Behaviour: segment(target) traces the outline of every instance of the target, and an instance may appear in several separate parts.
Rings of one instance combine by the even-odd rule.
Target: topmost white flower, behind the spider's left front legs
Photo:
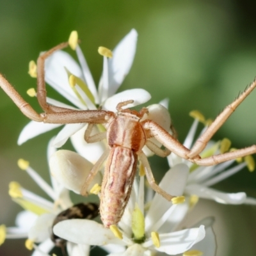
[[[76,53],[79,64],[67,52],[57,51],[52,54],[45,62],[45,81],[63,97],[68,99],[76,108],[50,98],[47,98],[47,102],[54,106],[70,109],[97,109],[100,106],[102,109],[109,111],[116,111],[116,105],[124,100],[134,100],[134,103],[125,106],[126,108],[147,102],[150,99],[150,94],[143,89],[126,90],[115,94],[131,68],[136,51],[137,36],[136,30],[132,29],[113,50],[113,58],[104,56],[103,72],[98,91],[78,44],[76,44]],[[76,81],[74,90],[70,86],[70,76]],[[20,145],[60,125],[29,122],[20,133],[18,144]],[[83,133],[86,125],[65,125],[54,140],[54,147],[61,147],[70,136],[76,134],[77,131],[81,131],[81,129],[81,133]],[[82,138],[80,134],[72,138],[74,147],[82,156],[86,156],[87,159],[90,157],[88,160],[95,163],[104,151],[104,145],[99,142],[84,147],[86,143]],[[95,154],[92,154],[93,148],[97,148]]]

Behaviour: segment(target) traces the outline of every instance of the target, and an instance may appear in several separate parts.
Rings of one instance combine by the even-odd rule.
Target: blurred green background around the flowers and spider
[[[139,34],[136,57],[120,90],[145,88],[152,94],[150,103],[168,97],[173,124],[183,141],[193,121],[189,111],[198,109],[207,118],[214,118],[256,76],[255,11],[256,2],[249,0],[0,0],[0,72],[40,111],[36,99],[26,95],[36,84],[28,76],[28,62],[36,60],[40,51],[67,40],[70,31],[76,29],[97,82],[102,70],[97,48],[104,45],[113,49],[135,28]],[[255,99],[253,92],[214,138],[228,137],[237,148],[255,144]],[[17,159],[28,159],[49,181],[45,153],[56,130],[18,147],[19,132],[28,118],[2,91],[0,120],[0,223],[12,226],[21,208],[8,196],[10,181],[17,180],[24,188],[45,196],[19,170]],[[166,161],[153,157],[150,163],[159,180],[168,168]],[[256,174],[244,169],[216,188],[246,191],[256,197],[255,183]],[[187,223],[215,216],[217,255],[256,255],[255,209],[201,200]],[[0,246],[0,255],[30,254],[24,240],[9,240]]]

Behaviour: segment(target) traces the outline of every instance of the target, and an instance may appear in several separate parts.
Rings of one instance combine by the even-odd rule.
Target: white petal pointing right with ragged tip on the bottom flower
[[[204,239],[204,237],[204,225],[201,225],[199,228],[189,228],[169,234],[159,234],[160,247],[155,248],[155,250],[165,252],[168,255],[176,255],[188,251],[194,244]]]

